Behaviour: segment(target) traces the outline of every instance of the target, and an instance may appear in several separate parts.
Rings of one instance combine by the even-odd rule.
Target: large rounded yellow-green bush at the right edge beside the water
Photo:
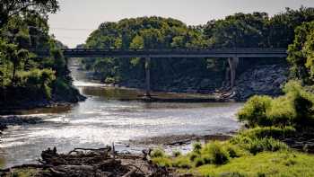
[[[254,96],[238,113],[240,121],[256,126],[302,126],[313,125],[314,95],[307,92],[297,81],[290,81],[283,88],[285,95],[272,99]]]

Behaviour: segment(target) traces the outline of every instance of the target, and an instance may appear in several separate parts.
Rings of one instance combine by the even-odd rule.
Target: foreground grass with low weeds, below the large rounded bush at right
[[[273,130],[266,128],[267,134],[269,129]],[[273,137],[250,137],[252,129],[248,132],[230,141],[196,144],[187,155],[160,155],[157,150],[153,163],[174,167],[178,173],[213,177],[314,176],[314,155],[293,151]],[[277,129],[275,132],[277,136]]]

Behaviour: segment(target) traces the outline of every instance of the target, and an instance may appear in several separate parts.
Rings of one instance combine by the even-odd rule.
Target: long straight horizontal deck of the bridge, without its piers
[[[63,49],[66,58],[286,58],[286,49]],[[39,56],[48,51],[34,50]]]

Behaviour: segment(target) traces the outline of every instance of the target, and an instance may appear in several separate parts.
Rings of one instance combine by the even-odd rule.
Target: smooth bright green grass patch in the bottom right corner
[[[206,164],[190,172],[202,176],[314,176],[314,155],[290,151],[263,152],[231,159],[228,164]],[[233,175],[232,175],[233,174]],[[237,175],[235,175],[237,174]],[[240,175],[239,175],[240,174]]]

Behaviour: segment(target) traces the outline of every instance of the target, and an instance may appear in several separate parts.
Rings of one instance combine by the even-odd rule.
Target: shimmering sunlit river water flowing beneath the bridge
[[[114,142],[118,150],[140,151],[141,146],[128,146],[128,140],[210,135],[240,128],[235,113],[241,103],[121,102],[120,98],[137,97],[141,92],[87,82],[77,65],[70,68],[74,84],[88,99],[71,107],[23,111],[22,114],[41,117],[45,122],[4,131],[0,148],[5,167],[36,163],[48,146],[67,152],[74,147],[96,148]]]

